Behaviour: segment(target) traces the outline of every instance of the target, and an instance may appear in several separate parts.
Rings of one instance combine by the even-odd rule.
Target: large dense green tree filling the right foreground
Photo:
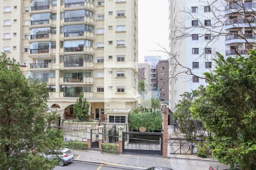
[[[256,50],[248,57],[215,59],[213,73],[205,73],[209,86],[200,90],[191,113],[212,131],[212,154],[221,163],[241,169],[256,164]]]

